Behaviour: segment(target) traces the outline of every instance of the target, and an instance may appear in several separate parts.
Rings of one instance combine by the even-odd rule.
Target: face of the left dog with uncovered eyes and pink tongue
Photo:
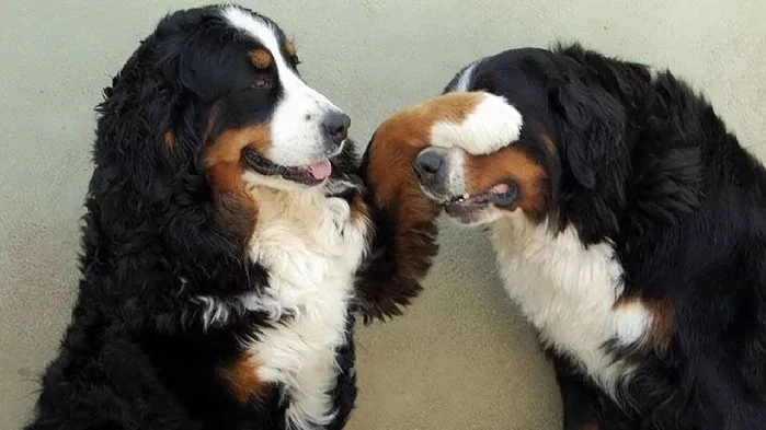
[[[209,26],[220,34],[201,28],[202,46],[180,62],[182,82],[214,102],[207,166],[233,163],[247,183],[274,188],[322,184],[346,143],[348,116],[304,82],[296,48],[274,22],[237,7],[218,20]],[[206,49],[220,38],[231,43]]]

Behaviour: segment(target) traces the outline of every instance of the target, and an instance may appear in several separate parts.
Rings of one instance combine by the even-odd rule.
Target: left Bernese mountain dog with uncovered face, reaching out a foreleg
[[[409,163],[365,189],[378,167],[298,62],[268,18],[209,5],[164,18],[113,79],[79,295],[26,429],[344,426],[354,317],[418,293],[433,214],[390,193],[420,193]]]

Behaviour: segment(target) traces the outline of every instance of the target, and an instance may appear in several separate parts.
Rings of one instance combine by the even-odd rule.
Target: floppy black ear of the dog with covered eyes
[[[628,156],[626,112],[616,96],[597,82],[569,75],[551,86],[549,102],[560,116],[564,165],[580,185],[594,189],[605,176],[624,173],[614,171],[621,171]]]

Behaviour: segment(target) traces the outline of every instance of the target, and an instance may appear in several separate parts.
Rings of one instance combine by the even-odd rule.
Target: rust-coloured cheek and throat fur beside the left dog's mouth
[[[258,125],[224,131],[205,154],[218,222],[244,242],[253,235],[258,206],[242,181],[242,150],[250,147],[263,154],[270,144],[268,126]]]

